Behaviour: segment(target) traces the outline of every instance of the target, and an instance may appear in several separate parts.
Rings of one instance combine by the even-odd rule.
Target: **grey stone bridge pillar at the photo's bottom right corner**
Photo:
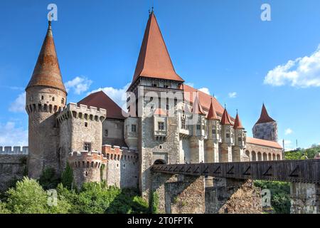
[[[320,214],[320,185],[291,183],[291,214]]]

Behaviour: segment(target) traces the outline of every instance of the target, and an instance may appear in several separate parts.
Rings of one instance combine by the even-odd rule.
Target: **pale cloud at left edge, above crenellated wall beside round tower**
[[[1,146],[25,146],[28,145],[28,130],[16,128],[16,123],[7,122],[1,124],[0,145]]]

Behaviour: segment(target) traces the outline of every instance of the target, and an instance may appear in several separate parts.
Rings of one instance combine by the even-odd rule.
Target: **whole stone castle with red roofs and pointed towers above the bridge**
[[[26,87],[28,176],[67,163],[75,185],[100,182],[139,187],[149,195],[154,164],[282,160],[277,122],[262,107],[246,135],[213,96],[184,84],[174,70],[152,11],[132,83],[127,112],[102,91],[67,103],[49,22],[36,67]],[[1,152],[0,152],[1,153]]]

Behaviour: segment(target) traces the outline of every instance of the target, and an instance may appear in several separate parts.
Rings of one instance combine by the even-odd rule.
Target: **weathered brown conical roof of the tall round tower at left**
[[[62,90],[66,93],[65,86],[62,81],[57,53],[55,51],[51,21],[49,21],[46,38],[43,41],[36,67],[34,68],[31,80],[29,81],[26,90],[34,86],[57,88],[58,90]]]

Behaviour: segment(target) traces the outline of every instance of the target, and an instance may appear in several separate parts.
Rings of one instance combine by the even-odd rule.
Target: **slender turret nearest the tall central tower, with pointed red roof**
[[[199,163],[205,160],[204,138],[206,137],[206,113],[203,112],[198,95],[193,101],[192,115],[193,133],[190,138],[191,163]]]

